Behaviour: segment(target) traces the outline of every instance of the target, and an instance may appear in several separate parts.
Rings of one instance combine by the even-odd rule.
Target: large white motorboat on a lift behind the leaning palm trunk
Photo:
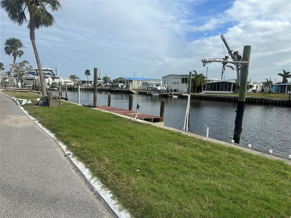
[[[45,77],[45,86],[48,87],[56,87],[59,88],[59,81],[61,85],[63,84],[63,79],[56,76],[52,69],[50,68],[42,68],[43,75]],[[38,68],[32,68],[27,74],[24,74],[22,77],[25,85],[40,85],[40,79],[38,74]]]

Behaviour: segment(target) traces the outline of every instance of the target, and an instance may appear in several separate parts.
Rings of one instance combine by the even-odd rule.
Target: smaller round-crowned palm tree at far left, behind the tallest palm
[[[13,64],[12,64],[10,72],[9,72],[7,88],[9,88],[9,86],[10,86],[12,70],[14,68],[16,57],[20,58],[24,54],[24,52],[22,50],[20,50],[21,48],[25,48],[25,47],[22,44],[22,42],[20,41],[20,39],[18,39],[18,38],[6,39],[5,44],[4,44],[5,54],[8,54],[8,55],[12,54],[12,57],[13,57]]]

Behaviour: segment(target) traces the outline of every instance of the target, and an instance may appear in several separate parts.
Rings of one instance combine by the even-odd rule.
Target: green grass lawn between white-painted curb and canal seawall
[[[136,218],[291,216],[286,163],[68,102],[24,108]]]

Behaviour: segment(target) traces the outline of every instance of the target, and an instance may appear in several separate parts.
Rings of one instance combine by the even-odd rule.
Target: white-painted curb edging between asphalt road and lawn
[[[2,92],[1,92],[2,93]],[[123,207],[118,203],[117,200],[114,199],[114,196],[107,188],[103,187],[103,184],[96,177],[93,177],[90,173],[90,170],[85,167],[85,165],[78,161],[75,157],[73,157],[72,152],[67,149],[67,146],[61,141],[57,140],[55,134],[53,134],[50,130],[46,129],[42,124],[38,122],[37,119],[30,116],[28,112],[21,106],[19,101],[17,101],[14,97],[10,97],[7,94],[2,93],[3,95],[14,100],[18,107],[22,110],[22,112],[27,115],[30,119],[34,121],[34,123],[46,134],[48,134],[52,139],[54,139],[59,146],[62,148],[64,153],[67,155],[69,160],[75,165],[75,167],[82,173],[85,180],[89,183],[91,189],[97,194],[97,196],[102,200],[102,202],[107,206],[109,211],[117,218],[133,218],[128,210],[123,209]]]

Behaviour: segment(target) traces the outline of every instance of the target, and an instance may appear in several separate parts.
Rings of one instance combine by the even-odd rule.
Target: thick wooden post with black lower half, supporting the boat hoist
[[[243,61],[249,62],[251,56],[251,45],[245,45],[243,47]],[[247,90],[247,81],[249,74],[249,63],[240,68],[240,86],[239,86],[239,99],[237,102],[236,109],[236,120],[234,123],[234,132],[233,140],[235,143],[239,144],[240,134],[242,133],[242,124],[243,124],[243,112],[245,110],[245,101],[246,101],[246,90]]]

